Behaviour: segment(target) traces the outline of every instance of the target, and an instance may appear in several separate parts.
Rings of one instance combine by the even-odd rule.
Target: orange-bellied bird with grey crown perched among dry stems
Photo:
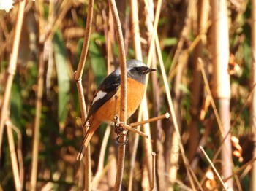
[[[142,61],[135,59],[127,61],[127,119],[135,112],[143,98],[146,82],[146,74],[156,69],[148,68]],[[121,96],[121,71],[120,67],[109,74],[99,85],[91,102],[86,120],[89,129],[83,137],[84,147],[88,147],[89,141],[95,130],[103,122],[113,124],[113,118],[120,113]]]

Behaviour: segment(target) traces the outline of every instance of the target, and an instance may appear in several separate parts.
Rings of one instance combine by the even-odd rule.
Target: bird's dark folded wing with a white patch
[[[97,112],[97,110],[105,104],[113,95],[116,94],[118,86],[121,83],[120,73],[113,72],[108,77],[106,77],[103,82],[99,85],[95,95],[94,100],[91,103],[91,108],[89,109],[86,122],[89,120],[92,114]]]

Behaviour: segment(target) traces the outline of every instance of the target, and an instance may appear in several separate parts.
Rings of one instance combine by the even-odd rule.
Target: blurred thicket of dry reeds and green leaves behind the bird
[[[116,1],[116,5],[127,60],[138,58],[134,39],[138,25],[143,61],[148,63],[150,57],[149,64],[157,69],[149,77],[147,108],[142,110],[148,117],[165,112],[170,112],[171,117],[142,128],[151,135],[148,141],[129,132],[122,189],[150,190],[153,151],[157,154],[157,190],[221,190],[217,174],[199,149],[202,146],[227,187],[249,190],[256,179],[250,174],[255,132],[250,114],[254,103],[250,95],[254,95],[255,84],[252,81],[255,1],[216,1],[215,8],[216,3],[210,0],[136,2],[137,9],[131,6],[132,0]],[[84,174],[76,157],[83,129],[73,75],[83,46],[88,1],[26,1],[17,67],[10,101],[3,114],[7,79],[12,76],[10,60],[19,6],[17,1],[9,12],[0,10],[0,120],[4,120],[0,126],[4,130],[0,134],[0,190],[17,189],[10,160],[14,151],[21,190],[31,189],[33,147],[38,148],[34,150],[38,153],[36,190],[81,190]],[[138,15],[138,22],[134,23],[132,15]],[[219,18],[220,24],[216,24]],[[155,43],[151,43],[152,38]],[[108,1],[95,1],[82,79],[87,110],[99,83],[118,64]],[[170,111],[170,103],[174,113]],[[139,109],[128,123],[136,122],[138,115]],[[15,150],[10,146],[7,128],[12,128]],[[116,133],[111,130],[110,139],[106,136],[108,144],[102,148],[106,129],[109,133],[111,128],[102,125],[91,139],[92,176],[101,175],[93,179],[93,190],[112,190],[115,184],[118,144]],[[35,136],[37,130],[39,134]],[[38,140],[38,147],[34,139]],[[105,153],[100,154],[102,150]]]

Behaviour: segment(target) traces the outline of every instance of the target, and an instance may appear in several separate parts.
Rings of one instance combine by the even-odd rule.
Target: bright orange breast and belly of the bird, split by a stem
[[[130,117],[140,105],[143,98],[145,85],[137,82],[135,79],[127,78],[127,118]],[[101,122],[113,122],[113,117],[120,115],[120,88],[115,96],[110,98],[105,104],[99,108],[94,114],[94,120]]]

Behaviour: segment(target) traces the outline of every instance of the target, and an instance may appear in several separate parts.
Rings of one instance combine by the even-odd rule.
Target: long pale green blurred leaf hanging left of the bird
[[[65,122],[68,114],[70,79],[67,66],[67,52],[64,46],[64,40],[59,31],[53,37],[53,48],[56,61],[58,78],[58,118],[59,122]]]

